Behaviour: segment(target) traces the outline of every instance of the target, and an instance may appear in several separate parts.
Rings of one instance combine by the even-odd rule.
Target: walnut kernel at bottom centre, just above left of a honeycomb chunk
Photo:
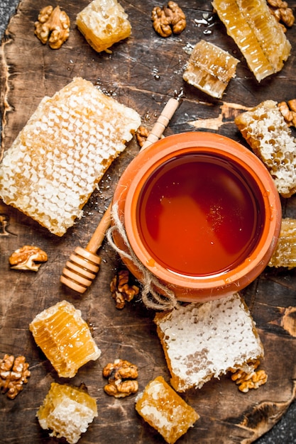
[[[103,376],[108,378],[104,391],[109,396],[124,398],[138,392],[138,367],[126,360],[116,359],[114,363],[107,364],[103,369]]]

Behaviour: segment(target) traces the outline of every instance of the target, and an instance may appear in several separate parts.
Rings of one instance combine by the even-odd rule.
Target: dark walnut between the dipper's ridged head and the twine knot
[[[119,270],[110,283],[113,299],[116,301],[116,309],[123,309],[126,301],[130,302],[139,292],[136,285],[130,284],[128,270]]]

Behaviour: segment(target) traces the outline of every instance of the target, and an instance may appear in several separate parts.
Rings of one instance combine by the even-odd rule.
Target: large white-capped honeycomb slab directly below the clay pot
[[[156,313],[154,322],[177,392],[200,389],[232,368],[250,370],[264,355],[256,325],[238,293]]]

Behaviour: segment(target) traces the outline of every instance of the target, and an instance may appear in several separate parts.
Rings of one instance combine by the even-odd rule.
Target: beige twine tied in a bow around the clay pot
[[[145,304],[148,309],[154,310],[169,310],[176,308],[177,299],[174,292],[168,289],[168,287],[165,287],[165,285],[161,284],[158,278],[155,277],[154,274],[151,273],[150,270],[148,270],[142,264],[142,262],[140,262],[140,260],[138,260],[138,257],[136,257],[135,253],[133,252],[131,245],[128,242],[124,223],[122,223],[119,217],[119,207],[117,203],[113,204],[112,206],[111,217],[114,221],[114,225],[111,226],[106,232],[106,238],[111,247],[114,248],[114,250],[118,252],[119,255],[121,255],[122,257],[126,257],[126,259],[128,260],[131,260],[131,262],[133,262],[133,264],[136,265],[138,270],[141,272],[141,275],[143,276],[141,278],[141,282],[143,284],[143,289],[141,292],[143,304]],[[121,238],[124,240],[128,252],[121,250],[121,248],[119,248],[114,243],[114,240],[112,238],[112,233],[114,231],[118,231],[119,235],[121,235]],[[162,294],[156,292],[155,288],[159,288]]]

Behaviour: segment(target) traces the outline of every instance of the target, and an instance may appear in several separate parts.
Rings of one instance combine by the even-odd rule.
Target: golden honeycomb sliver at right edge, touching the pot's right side
[[[278,245],[268,265],[288,270],[296,267],[296,219],[283,218]]]

